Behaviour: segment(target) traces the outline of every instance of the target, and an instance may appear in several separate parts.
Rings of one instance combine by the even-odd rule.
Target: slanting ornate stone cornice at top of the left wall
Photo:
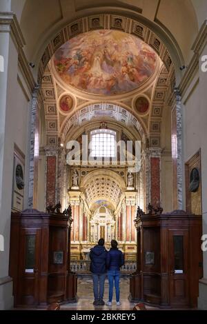
[[[32,92],[35,86],[35,81],[32,72],[30,71],[26,55],[23,52],[23,46],[26,45],[26,41],[23,38],[16,14],[13,12],[0,12],[0,32],[8,32],[11,34],[19,56],[19,68],[28,84],[28,88]]]

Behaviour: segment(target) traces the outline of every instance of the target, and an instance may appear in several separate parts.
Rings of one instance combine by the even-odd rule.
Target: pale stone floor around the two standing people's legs
[[[74,304],[61,305],[61,310],[132,310],[134,303],[128,301],[129,279],[121,278],[120,280],[120,301],[121,305],[116,305],[115,290],[112,300],[112,307],[92,305],[94,298],[92,292],[92,279],[89,277],[78,279],[77,295],[79,300]],[[115,288],[114,288],[115,289]],[[105,282],[104,301],[108,301],[108,280]],[[146,306],[148,310],[156,310],[155,307]]]

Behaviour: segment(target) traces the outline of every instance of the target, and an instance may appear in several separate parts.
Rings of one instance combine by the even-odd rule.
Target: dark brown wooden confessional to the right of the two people
[[[140,214],[137,272],[130,276],[130,301],[161,307],[197,307],[202,277],[201,216],[183,210]]]

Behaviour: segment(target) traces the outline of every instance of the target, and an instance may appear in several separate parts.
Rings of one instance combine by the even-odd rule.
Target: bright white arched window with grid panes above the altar
[[[113,130],[92,130],[90,132],[92,157],[116,156],[116,132]]]

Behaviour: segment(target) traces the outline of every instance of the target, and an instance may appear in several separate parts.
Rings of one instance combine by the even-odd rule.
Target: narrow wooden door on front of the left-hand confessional
[[[18,305],[39,304],[40,233],[37,229],[21,230]]]

